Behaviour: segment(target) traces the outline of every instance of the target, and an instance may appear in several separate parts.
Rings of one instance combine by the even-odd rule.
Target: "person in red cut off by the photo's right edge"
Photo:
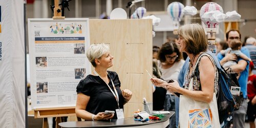
[[[250,61],[249,65],[249,77],[247,82],[247,95],[248,95],[248,106],[247,116],[250,124],[250,128],[255,128],[255,117],[256,117],[256,75],[253,74],[252,69],[254,68],[253,62]]]

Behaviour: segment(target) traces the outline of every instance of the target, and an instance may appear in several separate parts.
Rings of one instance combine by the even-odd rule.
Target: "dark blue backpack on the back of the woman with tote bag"
[[[218,113],[219,113],[219,121],[222,123],[224,120],[226,120],[228,117],[230,117],[234,111],[234,106],[236,105],[236,101],[234,100],[231,92],[230,92],[230,77],[225,72],[223,67],[219,68],[216,65],[216,62],[209,54],[203,54],[207,55],[211,61],[215,64],[215,67],[218,70],[219,74],[219,81],[218,81],[218,92],[216,94],[217,98],[217,105],[218,105]],[[219,61],[218,61],[219,62]]]

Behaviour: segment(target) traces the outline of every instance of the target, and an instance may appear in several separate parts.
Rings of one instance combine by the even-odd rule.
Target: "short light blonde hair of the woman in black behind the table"
[[[87,58],[96,67],[95,59],[100,58],[103,54],[110,51],[110,47],[106,44],[92,44],[87,50]]]

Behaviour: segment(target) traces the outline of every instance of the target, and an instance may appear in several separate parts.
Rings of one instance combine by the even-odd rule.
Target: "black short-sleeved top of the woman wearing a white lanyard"
[[[119,96],[119,107],[123,109],[124,99],[122,96],[122,91],[120,90],[121,82],[118,78],[116,72],[108,71],[108,77],[111,78],[116,87]],[[109,82],[110,88],[114,91],[112,82]],[[115,111],[118,109],[118,104],[116,98],[110,91],[106,83],[99,77],[94,75],[88,75],[86,78],[82,79],[77,87],[77,93],[83,93],[84,95],[90,96],[90,100],[87,104],[86,111],[92,114],[98,114],[99,112],[104,112],[105,110]],[[112,119],[117,119],[116,113]]]

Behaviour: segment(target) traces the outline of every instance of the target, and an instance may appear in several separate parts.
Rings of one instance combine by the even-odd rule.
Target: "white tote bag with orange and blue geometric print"
[[[193,78],[190,79],[188,90],[193,90]],[[210,103],[196,101],[180,95],[179,107],[180,127],[221,127],[215,93]]]

